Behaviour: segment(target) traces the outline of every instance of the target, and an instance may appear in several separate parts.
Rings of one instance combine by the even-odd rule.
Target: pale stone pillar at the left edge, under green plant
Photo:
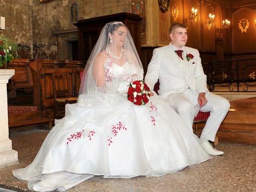
[[[14,69],[0,69],[0,167],[18,162],[18,152],[12,150],[8,129],[6,84],[13,75]]]

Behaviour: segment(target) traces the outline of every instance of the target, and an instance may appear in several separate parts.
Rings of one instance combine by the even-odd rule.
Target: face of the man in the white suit
[[[182,46],[186,45],[186,42],[188,40],[188,32],[186,28],[176,28],[170,33],[170,38],[172,41],[172,44],[180,49]]]

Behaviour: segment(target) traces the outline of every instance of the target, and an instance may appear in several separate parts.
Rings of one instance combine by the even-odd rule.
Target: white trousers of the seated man
[[[206,93],[205,97],[208,102],[200,111],[210,112],[210,116],[206,121],[201,136],[214,141],[220,124],[228,113],[230,104],[225,98],[212,93]],[[195,107],[198,104],[197,99],[198,96],[194,95],[192,90],[188,89],[181,94],[175,94],[170,101],[172,108],[180,115],[185,124],[191,128],[192,132]]]

